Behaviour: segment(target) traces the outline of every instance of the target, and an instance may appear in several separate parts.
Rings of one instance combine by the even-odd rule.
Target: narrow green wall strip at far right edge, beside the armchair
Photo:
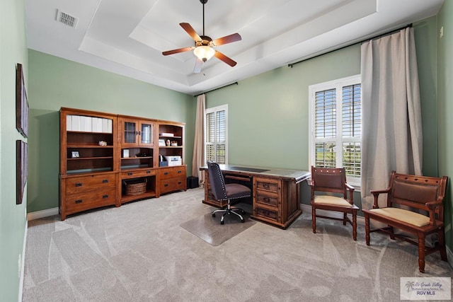
[[[439,175],[449,176],[445,201],[445,237],[453,251],[453,3],[445,1],[437,18],[437,129],[439,149]],[[440,37],[443,27],[444,36]],[[433,104],[435,105],[435,104]]]

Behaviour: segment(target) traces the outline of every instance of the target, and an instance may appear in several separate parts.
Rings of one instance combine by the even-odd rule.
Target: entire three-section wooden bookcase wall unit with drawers
[[[176,146],[159,147],[159,131]],[[80,211],[186,190],[184,124],[105,112],[61,108],[59,212]],[[160,166],[159,154],[180,156]],[[142,184],[130,194],[127,186]]]

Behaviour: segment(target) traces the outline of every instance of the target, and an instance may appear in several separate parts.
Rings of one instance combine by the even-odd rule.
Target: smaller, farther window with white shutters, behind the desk
[[[206,109],[206,161],[228,163],[228,105]]]

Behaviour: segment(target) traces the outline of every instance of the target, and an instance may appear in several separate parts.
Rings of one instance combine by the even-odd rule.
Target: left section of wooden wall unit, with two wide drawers
[[[60,110],[59,212],[117,203],[117,116],[88,110]]]

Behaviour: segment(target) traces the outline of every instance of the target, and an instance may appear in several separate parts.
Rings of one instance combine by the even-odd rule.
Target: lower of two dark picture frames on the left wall
[[[16,204],[22,204],[23,191],[28,175],[28,144],[16,141]]]

